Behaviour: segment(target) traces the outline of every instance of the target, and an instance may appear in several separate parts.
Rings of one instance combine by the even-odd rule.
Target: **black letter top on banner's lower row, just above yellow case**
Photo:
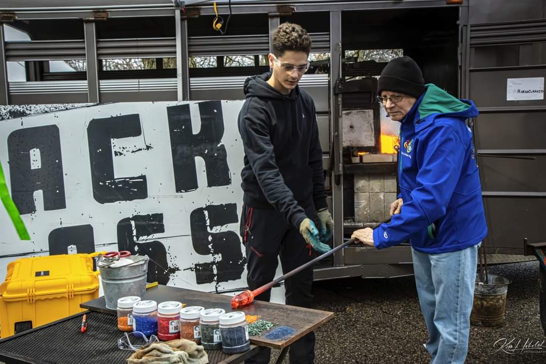
[[[95,240],[91,225],[68,226],[52,230],[49,233],[48,240],[50,256],[68,253],[92,253],[95,251]]]

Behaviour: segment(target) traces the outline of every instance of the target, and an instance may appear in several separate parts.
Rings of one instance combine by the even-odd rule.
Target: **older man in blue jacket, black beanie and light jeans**
[[[431,364],[462,364],[468,351],[477,251],[487,234],[472,132],[478,110],[424,84],[410,57],[391,60],[378,99],[401,123],[400,195],[389,223],[353,237],[378,249],[410,240]]]

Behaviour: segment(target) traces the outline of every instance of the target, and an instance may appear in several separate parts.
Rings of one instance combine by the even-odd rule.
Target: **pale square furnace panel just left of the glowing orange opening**
[[[373,110],[348,110],[341,114],[343,147],[375,147]]]

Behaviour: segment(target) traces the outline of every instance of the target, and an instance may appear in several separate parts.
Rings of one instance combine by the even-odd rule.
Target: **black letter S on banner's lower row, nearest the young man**
[[[205,215],[205,211],[208,215]],[[208,221],[207,221],[208,220]],[[211,233],[209,229],[239,221],[237,205],[208,205],[192,211],[189,226],[192,229],[192,243],[195,252],[201,255],[221,255],[221,260],[212,259],[210,263],[194,265],[197,284],[227,282],[241,278],[246,258],[241,252],[239,235],[232,231]],[[214,273],[216,266],[216,274]]]

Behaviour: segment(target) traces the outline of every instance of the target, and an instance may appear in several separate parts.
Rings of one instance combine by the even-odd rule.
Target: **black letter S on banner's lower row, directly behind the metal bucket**
[[[155,260],[155,262],[150,260],[148,263],[148,282],[157,281],[159,284],[167,284],[170,274],[176,271],[176,267],[167,266],[167,251],[161,241],[138,241],[142,236],[164,232],[163,214],[135,215],[117,223],[118,250],[127,250],[133,255],[147,255]]]

